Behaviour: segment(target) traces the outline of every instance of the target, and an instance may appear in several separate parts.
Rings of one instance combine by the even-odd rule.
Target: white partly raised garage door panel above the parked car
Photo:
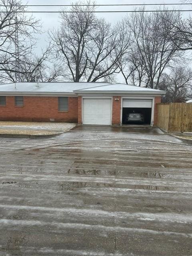
[[[152,100],[123,99],[123,108],[152,108]]]

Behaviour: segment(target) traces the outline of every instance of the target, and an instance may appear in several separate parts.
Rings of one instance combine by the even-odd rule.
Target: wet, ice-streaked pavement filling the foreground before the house
[[[78,129],[0,138],[0,256],[192,255],[192,145]]]

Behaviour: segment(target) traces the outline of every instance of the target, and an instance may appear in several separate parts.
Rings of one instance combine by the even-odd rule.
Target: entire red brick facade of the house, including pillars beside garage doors
[[[118,98],[119,100],[115,100]],[[120,124],[121,96],[113,96],[112,124]],[[161,97],[155,97],[154,125],[157,125],[157,104]],[[24,96],[24,106],[15,106],[14,96],[6,96],[6,107],[0,106],[0,120],[5,121],[50,121],[78,122],[82,124],[82,96],[68,97],[68,111],[58,111],[58,97]]]

